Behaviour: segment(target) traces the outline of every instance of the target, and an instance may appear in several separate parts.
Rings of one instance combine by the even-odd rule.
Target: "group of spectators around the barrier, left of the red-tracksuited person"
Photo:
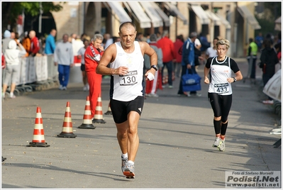
[[[3,89],[2,98],[5,98],[6,90],[11,84],[9,89],[10,98],[15,98],[13,91],[18,82],[18,72],[20,72],[20,58],[22,57],[35,57],[42,55],[51,55],[54,64],[58,66],[60,89],[67,89],[67,82],[70,76],[70,67],[74,64],[74,61],[82,60],[82,75],[84,90],[88,89],[87,77],[84,72],[84,59],[82,59],[83,50],[89,45],[90,38],[87,34],[82,34],[82,38],[78,35],[64,34],[62,40],[56,42],[55,36],[57,30],[54,28],[50,30],[47,38],[36,36],[35,30],[26,31],[20,38],[17,33],[5,30],[2,38],[2,69],[3,70]],[[16,45],[14,44],[16,43]],[[13,57],[11,57],[13,52]],[[24,52],[24,54],[23,54]],[[78,56],[80,53],[81,57]]]

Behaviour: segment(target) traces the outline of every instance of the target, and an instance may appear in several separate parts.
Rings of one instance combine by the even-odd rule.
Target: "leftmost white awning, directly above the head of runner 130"
[[[107,1],[103,2],[106,8],[118,17],[120,23],[131,22],[132,19],[128,16],[128,13],[123,9],[123,6],[118,1]],[[110,6],[110,9],[109,9]]]

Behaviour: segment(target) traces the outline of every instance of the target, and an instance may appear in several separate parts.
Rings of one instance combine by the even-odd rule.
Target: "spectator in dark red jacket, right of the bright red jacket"
[[[174,48],[175,48],[175,54],[176,54],[176,60],[174,61],[174,73],[175,76],[180,77],[181,76],[181,68],[182,68],[182,48],[184,44],[184,37],[183,35],[178,35],[176,41],[174,42]]]

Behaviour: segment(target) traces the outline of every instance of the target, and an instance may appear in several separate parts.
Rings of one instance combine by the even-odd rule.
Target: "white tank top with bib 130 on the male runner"
[[[121,66],[128,67],[128,74],[113,75],[111,79],[110,96],[118,101],[132,101],[137,96],[143,96],[143,54],[138,41],[134,42],[135,50],[127,53],[120,42],[116,44],[116,59],[110,67],[116,69]]]

